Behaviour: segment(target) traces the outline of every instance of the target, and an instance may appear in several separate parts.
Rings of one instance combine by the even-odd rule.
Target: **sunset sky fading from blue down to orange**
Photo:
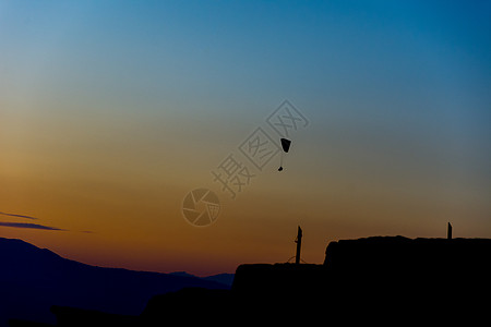
[[[286,170],[231,199],[211,171],[285,99],[310,122]],[[84,263],[231,272],[298,225],[308,263],[491,238],[490,144],[491,1],[0,1],[0,237]]]

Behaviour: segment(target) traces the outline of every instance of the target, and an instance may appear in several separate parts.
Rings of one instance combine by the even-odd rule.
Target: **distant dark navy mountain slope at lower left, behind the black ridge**
[[[51,305],[139,315],[148,300],[182,288],[228,289],[194,276],[85,265],[14,239],[0,238],[0,326],[8,319],[55,324]]]

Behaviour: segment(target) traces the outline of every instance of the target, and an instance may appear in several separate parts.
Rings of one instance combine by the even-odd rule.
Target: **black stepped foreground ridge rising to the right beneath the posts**
[[[157,295],[140,316],[61,306],[51,312],[58,326],[468,324],[488,319],[490,266],[489,239],[343,240],[328,244],[323,265],[241,265],[231,290]]]

